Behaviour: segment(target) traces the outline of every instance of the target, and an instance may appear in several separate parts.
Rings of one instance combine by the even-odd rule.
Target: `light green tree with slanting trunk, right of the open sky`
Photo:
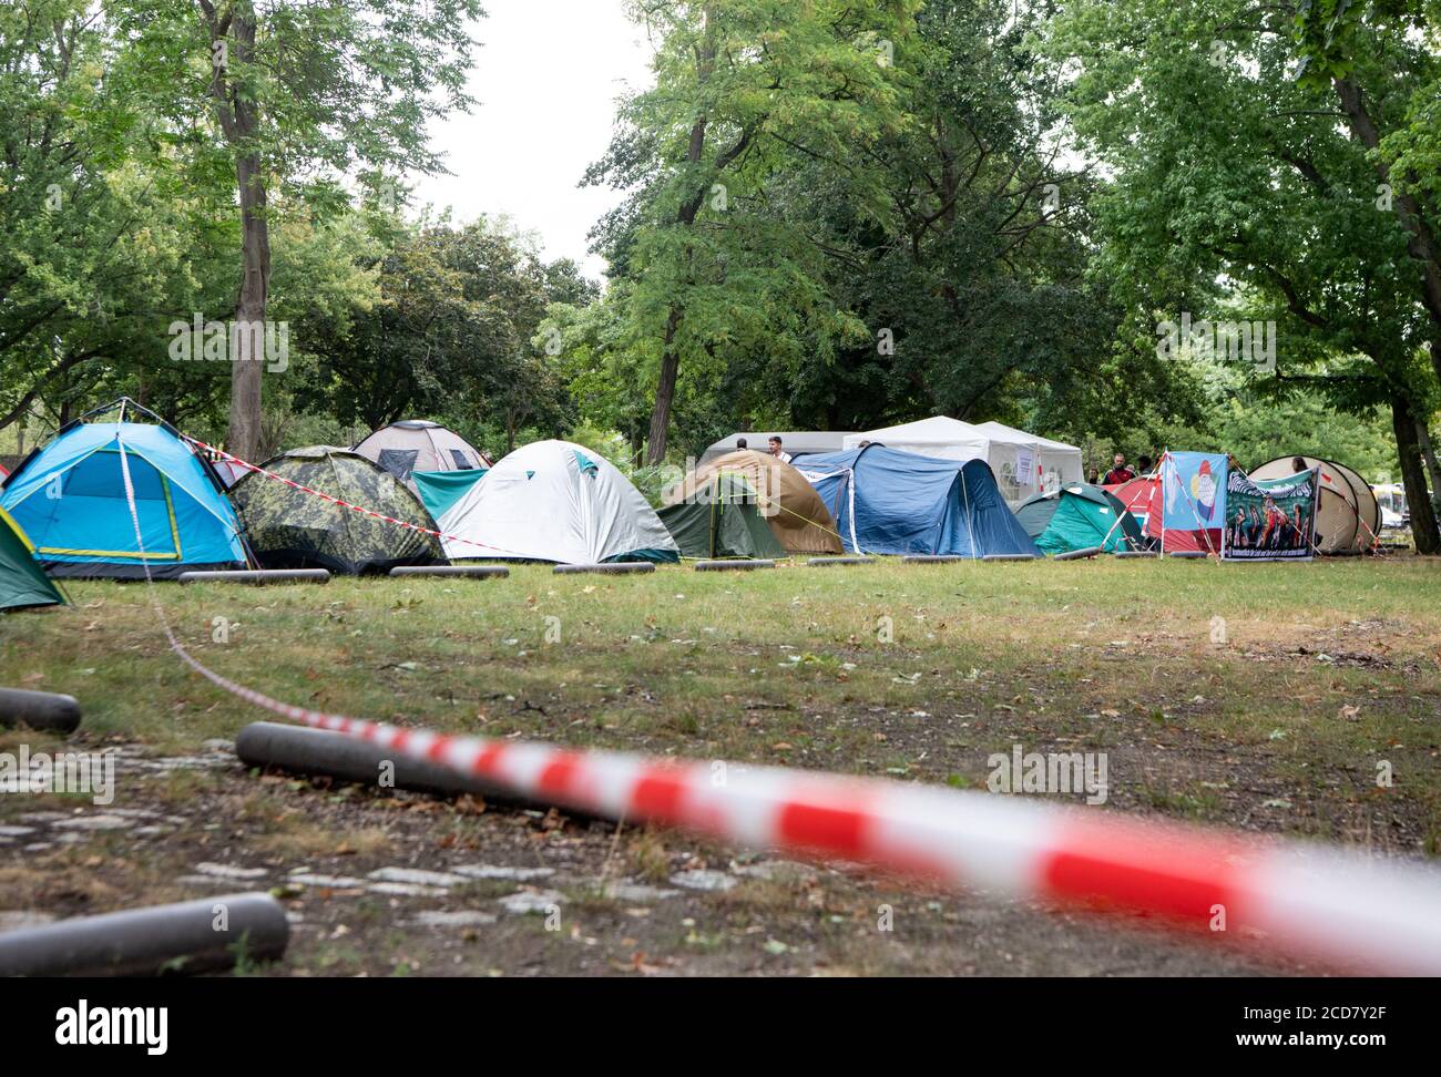
[[[598,236],[630,285],[614,298],[620,344],[654,384],[651,462],[666,455],[682,370],[710,389],[732,353],[795,371],[865,331],[824,287],[808,222],[771,212],[769,184],[797,154],[839,158],[904,121],[891,58],[915,7],[631,4],[659,42],[656,85],[624,101],[588,179],[631,191]]]

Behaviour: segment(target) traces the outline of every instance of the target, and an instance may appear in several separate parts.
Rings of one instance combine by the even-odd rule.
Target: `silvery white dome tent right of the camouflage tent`
[[[437,526],[454,536],[444,540],[452,560],[680,560],[676,540],[656,510],[615,465],[565,441],[516,449],[467,490]]]

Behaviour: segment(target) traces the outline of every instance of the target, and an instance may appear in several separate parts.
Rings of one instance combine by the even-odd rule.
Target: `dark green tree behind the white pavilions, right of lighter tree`
[[[818,222],[846,304],[870,327],[834,370],[811,366],[800,425],[865,429],[924,415],[1120,435],[1195,418],[1195,386],[1117,334],[1088,279],[1089,170],[1068,160],[1059,78],[1027,33],[1042,6],[927,4],[896,63],[911,120],[840,161],[803,168],[794,204]],[[852,212],[879,167],[888,212]],[[810,191],[810,197],[807,197]]]

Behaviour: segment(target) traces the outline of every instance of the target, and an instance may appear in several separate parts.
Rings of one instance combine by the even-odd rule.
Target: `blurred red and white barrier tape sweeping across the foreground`
[[[140,515],[122,442],[120,459],[138,543]],[[141,563],[153,583],[148,563]],[[293,721],[473,775],[527,799],[1020,898],[1205,926],[1221,937],[1254,939],[1284,955],[1356,969],[1441,975],[1441,874],[1427,868],[1004,795],[581,752],[327,714],[272,700],[206,668],[176,639],[156,589],[147,590],[170,648],[225,691]]]

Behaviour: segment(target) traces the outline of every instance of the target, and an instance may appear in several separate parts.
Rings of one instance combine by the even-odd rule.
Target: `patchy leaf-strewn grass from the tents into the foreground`
[[[76,583],[71,595],[66,609],[0,618],[0,670],[10,685],[76,695],[85,708],[79,743],[193,756],[205,742],[233,739],[267,717],[167,651],[143,586]],[[360,717],[971,788],[984,788],[987,756],[1014,744],[1105,752],[1110,798],[1095,811],[1355,842],[1405,857],[1434,857],[1441,845],[1441,566],[1414,557],[1278,566],[797,564],[755,573],[663,567],[618,577],[519,566],[504,580],[163,585],[159,596],[182,639],[213,670],[282,700]],[[0,749],[20,740],[45,743],[10,731],[0,733]],[[1382,769],[1393,776],[1389,786],[1378,785]],[[650,949],[633,960],[623,950],[627,939],[635,942],[634,924],[654,929],[663,917],[604,911],[612,901],[604,887],[595,890],[597,878],[664,886],[684,870],[677,865],[744,867],[748,854],[672,834],[621,838],[595,829],[599,824],[558,824],[540,814],[476,814],[428,798],[246,776],[238,766],[147,779],[134,798],[193,825],[177,822],[169,837],[144,842],[115,831],[89,844],[35,850],[20,875],[0,875],[0,909],[68,913],[170,893],[183,862],[202,855],[249,858],[278,873],[336,857],[424,868],[445,858],[437,850],[486,852],[514,838],[530,855],[536,842],[550,850],[574,839],[575,865],[588,867],[572,865],[582,880],[575,893],[562,887],[569,907],[627,926],[615,939],[598,929],[579,936],[579,953],[586,946],[592,956],[607,953],[599,970],[669,970],[667,962],[677,970],[749,970],[778,962],[797,972],[1187,972],[1189,962],[1202,960],[1144,932],[1117,950],[1105,942],[1117,936],[1091,920],[1068,934],[1065,917],[1009,909],[996,911],[991,932],[1012,939],[1007,960],[1014,963],[997,968],[1000,957],[984,950],[986,932],[967,930],[964,916],[950,919],[971,898],[918,897],[844,873],[827,886],[827,868],[816,870],[821,875],[787,868],[781,881],[775,873],[742,871],[742,887],[666,906],[689,914],[676,913],[673,932],[641,940]],[[53,808],[42,798],[0,798],[0,824],[33,814],[37,803]],[[107,862],[104,888],[88,881],[95,873],[79,870],[85,857]],[[49,873],[37,875],[46,865]],[[56,873],[66,878],[59,890]],[[493,903],[517,890],[514,881],[497,886],[506,893],[467,891],[467,900]],[[826,911],[824,898],[816,904],[807,897],[816,887],[843,893],[843,909]],[[448,893],[454,906],[460,891]],[[856,910],[873,907],[880,893],[932,916],[934,934],[916,927],[904,953],[876,943],[875,932],[837,929],[844,939],[827,942],[826,927],[834,926],[827,917],[842,924],[875,919]],[[356,900],[326,906],[326,932],[336,917],[357,920],[354,910],[372,897]],[[927,911],[931,904],[940,911]],[[764,923],[746,934],[755,909],[810,934],[793,943],[772,937],[781,929]],[[990,916],[984,901],[976,909]],[[450,960],[454,939],[422,945],[396,926],[408,914],[405,907],[376,911],[362,932],[369,943],[359,947],[354,923],[336,940],[321,933],[307,942],[301,932],[297,956],[282,970],[405,965],[438,972],[435,962]],[[715,943],[686,942],[697,932],[710,937],[708,916],[716,919]],[[539,930],[535,917],[520,920]],[[481,942],[488,930],[480,929]],[[563,946],[552,953],[556,933],[536,930],[523,936],[529,949],[509,929],[510,942],[491,939],[499,949],[484,955],[457,943],[455,966],[522,970],[529,966],[512,959],[539,953],[532,970],[595,970],[584,960],[568,963]],[[336,956],[347,934],[354,953]]]

